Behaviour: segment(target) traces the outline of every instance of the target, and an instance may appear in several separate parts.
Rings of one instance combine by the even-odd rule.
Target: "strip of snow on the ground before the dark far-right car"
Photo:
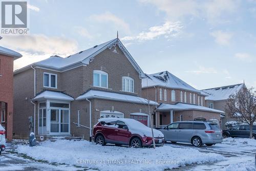
[[[256,146],[256,140],[249,138],[225,138],[222,144],[238,145],[238,146]]]

